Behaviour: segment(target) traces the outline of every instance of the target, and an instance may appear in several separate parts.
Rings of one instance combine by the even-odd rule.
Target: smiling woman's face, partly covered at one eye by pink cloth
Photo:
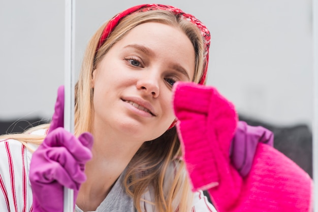
[[[162,135],[175,119],[172,86],[194,70],[194,47],[180,29],[136,26],[93,71],[93,124],[141,142]]]

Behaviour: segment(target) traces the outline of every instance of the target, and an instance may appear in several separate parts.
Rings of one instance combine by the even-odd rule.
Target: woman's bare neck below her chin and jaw
[[[96,210],[142,145],[105,129],[97,129],[92,135],[93,157],[85,165],[87,180],[81,185],[76,201],[84,211]]]

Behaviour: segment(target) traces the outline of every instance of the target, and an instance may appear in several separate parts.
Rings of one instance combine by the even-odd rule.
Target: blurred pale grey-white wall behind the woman
[[[93,32],[152,1],[76,2],[76,67]],[[156,1],[211,31],[208,84],[240,114],[276,125],[312,121],[311,1]],[[63,84],[64,1],[0,2],[0,119],[50,118]]]

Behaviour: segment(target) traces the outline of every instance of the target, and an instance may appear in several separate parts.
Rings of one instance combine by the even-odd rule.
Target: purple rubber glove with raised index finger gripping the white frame
[[[33,211],[63,211],[63,187],[74,190],[74,205],[81,183],[86,181],[85,163],[91,159],[93,137],[85,132],[76,138],[63,128],[64,87],[58,88],[49,132],[33,153],[30,183]]]

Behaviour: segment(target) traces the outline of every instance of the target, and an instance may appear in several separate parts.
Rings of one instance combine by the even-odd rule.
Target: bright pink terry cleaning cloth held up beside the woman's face
[[[243,178],[232,165],[234,105],[214,87],[179,82],[173,105],[183,159],[193,190],[207,189],[219,212],[310,211],[312,180],[296,163],[259,143]]]

